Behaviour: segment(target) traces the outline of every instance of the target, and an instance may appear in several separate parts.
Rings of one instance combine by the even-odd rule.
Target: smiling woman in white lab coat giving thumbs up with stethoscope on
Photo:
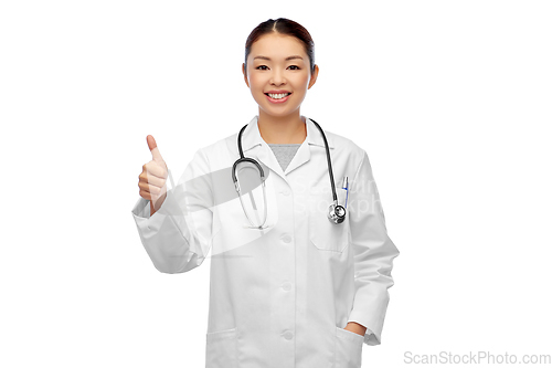
[[[300,24],[258,24],[242,72],[258,115],[195,151],[170,190],[147,137],[141,242],[163,273],[211,252],[208,368],[361,367],[363,344],[381,343],[399,255],[367,153],[300,115],[319,72]]]

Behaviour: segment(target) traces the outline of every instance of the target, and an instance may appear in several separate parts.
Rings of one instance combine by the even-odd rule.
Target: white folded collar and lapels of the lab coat
[[[305,116],[305,120],[307,124],[307,137],[305,141],[299,146],[299,149],[287,166],[286,171],[282,170],[282,167],[276,156],[274,156],[272,148],[261,136],[257,124],[258,115],[255,115],[255,117],[251,119],[250,124],[242,134],[242,149],[244,156],[256,157],[261,162],[266,165],[270,170],[286,180],[286,175],[289,175],[289,172],[310,160],[311,146],[315,146],[316,149],[319,149],[319,147],[321,147],[323,155],[326,155],[323,138],[320,130],[308,117]],[[333,149],[335,146],[331,135],[326,133],[326,139],[328,140],[328,148],[330,150]]]

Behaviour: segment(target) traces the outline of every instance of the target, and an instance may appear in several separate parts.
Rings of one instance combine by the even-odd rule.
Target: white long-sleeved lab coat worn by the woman
[[[244,130],[242,147],[268,171],[267,228],[246,227],[234,189],[236,132],[195,153],[153,215],[149,201],[138,199],[132,215],[141,242],[163,273],[191,271],[211,252],[206,368],[360,367],[362,343],[381,343],[399,255],[367,153],[325,130],[340,204],[342,178],[349,177],[347,217],[333,224],[318,128],[306,118],[307,138],[284,172],[257,119]],[[262,190],[253,192],[262,219]],[[367,334],[343,329],[348,322],[365,326]]]

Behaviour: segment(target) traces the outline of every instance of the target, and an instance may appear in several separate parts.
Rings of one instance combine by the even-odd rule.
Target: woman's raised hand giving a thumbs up
[[[142,166],[142,171],[138,176],[138,187],[140,188],[140,197],[150,201],[150,215],[152,215],[161,208],[167,198],[169,169],[159,153],[159,148],[157,148],[153,136],[148,135],[146,140],[148,141],[152,160]]]

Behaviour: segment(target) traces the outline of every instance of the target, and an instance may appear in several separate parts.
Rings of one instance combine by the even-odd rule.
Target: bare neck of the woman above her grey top
[[[259,109],[258,132],[267,144],[302,144],[307,138],[305,117],[297,109],[290,115],[274,116]]]

